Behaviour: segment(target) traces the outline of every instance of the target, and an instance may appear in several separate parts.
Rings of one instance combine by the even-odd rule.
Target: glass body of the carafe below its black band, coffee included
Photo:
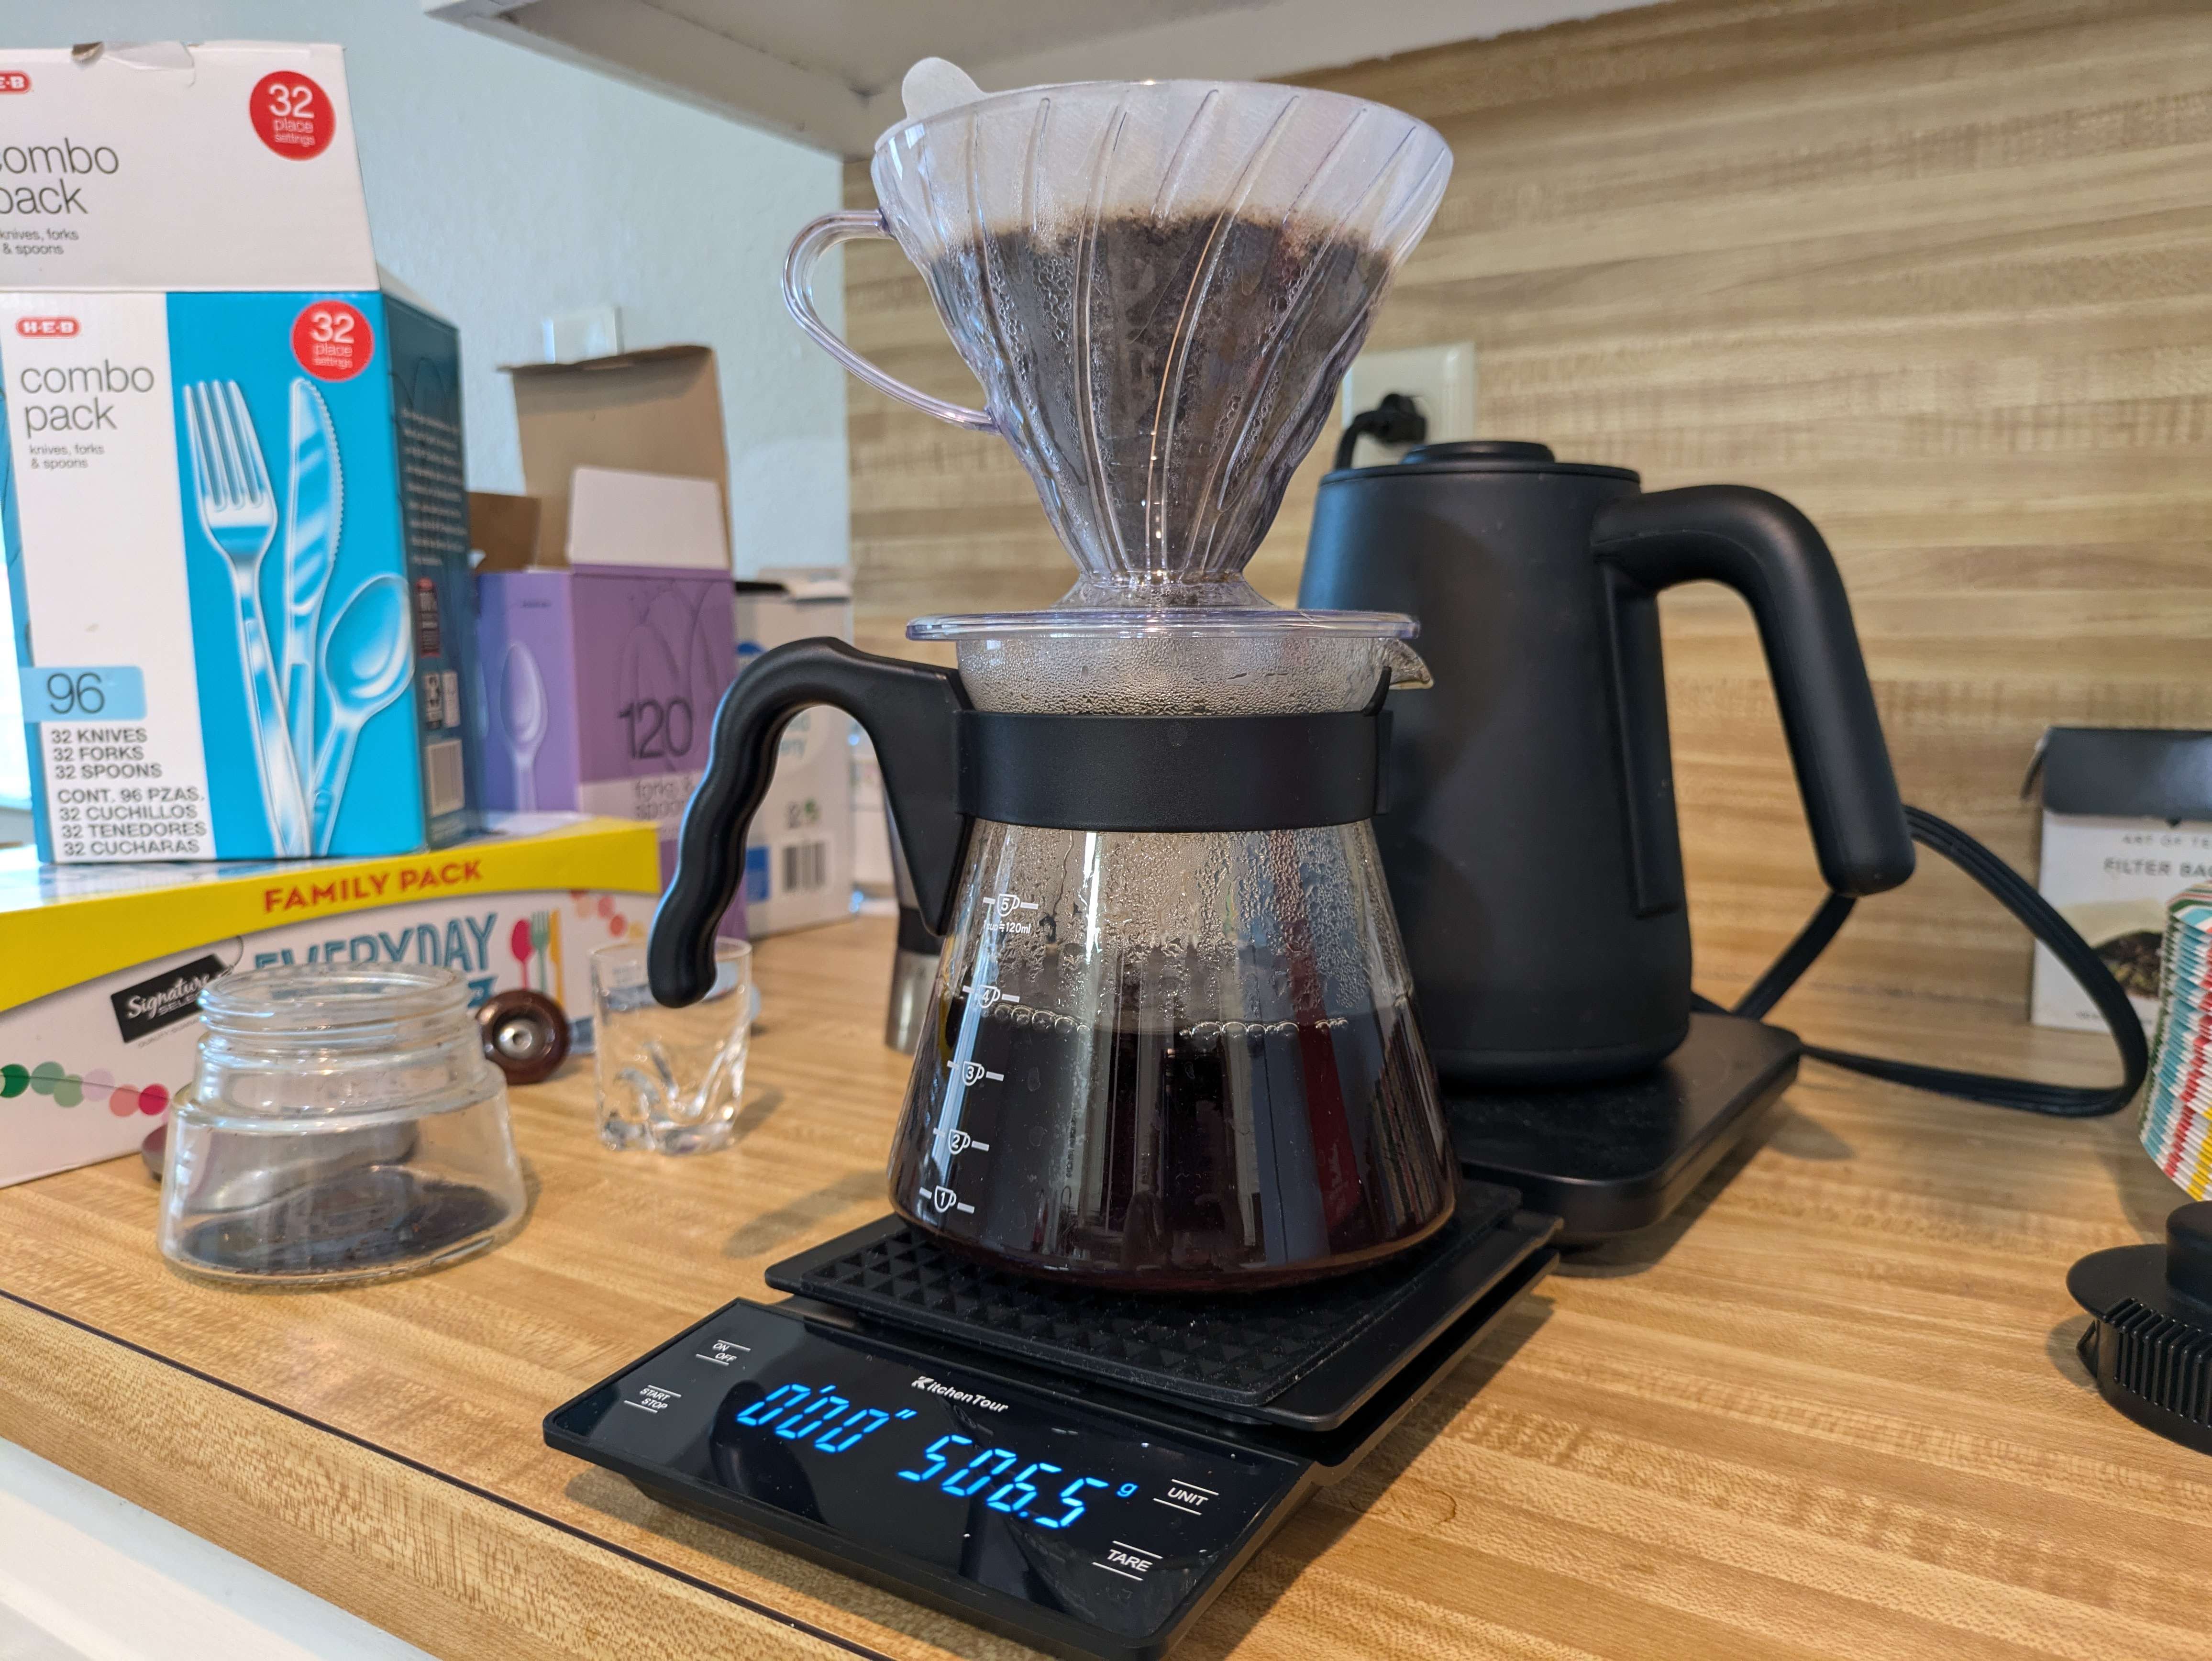
[[[1365,825],[982,825],[971,858],[891,1148],[911,1221],[1009,1263],[1210,1289],[1352,1267],[1449,1212],[1405,971],[1354,927],[1383,902]],[[1265,891],[1243,929],[1210,916],[1239,891]]]

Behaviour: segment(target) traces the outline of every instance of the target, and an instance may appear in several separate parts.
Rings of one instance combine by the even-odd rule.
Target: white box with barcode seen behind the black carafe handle
[[[830,635],[852,639],[845,571],[763,571],[737,584],[737,664],[770,646]],[[852,717],[812,708],[792,717],[776,776],[745,838],[745,927],[754,938],[852,916]]]

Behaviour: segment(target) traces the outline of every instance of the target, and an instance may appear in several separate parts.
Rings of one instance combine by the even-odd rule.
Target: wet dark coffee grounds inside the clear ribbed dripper
[[[1389,257],[1296,221],[1108,217],[927,270],[1088,573],[1234,573],[1305,460]]]

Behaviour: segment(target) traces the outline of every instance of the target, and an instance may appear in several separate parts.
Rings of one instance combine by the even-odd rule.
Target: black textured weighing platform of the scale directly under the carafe
[[[947,1252],[898,1216],[772,1265],[768,1285],[969,1349],[1232,1409],[1265,1409],[1360,1345],[1360,1365],[1336,1369],[1347,1373],[1343,1411],[1352,1411],[1376,1378],[1387,1378],[1469,1309],[1509,1261],[1520,1261],[1526,1230],[1500,1228],[1517,1208],[1511,1188],[1462,1183],[1451,1223],[1407,1256],[1334,1281],[1232,1298],[1033,1281]],[[1323,1407],[1321,1418],[1329,1415]],[[1301,1404],[1298,1420],[1314,1420],[1312,1402]]]

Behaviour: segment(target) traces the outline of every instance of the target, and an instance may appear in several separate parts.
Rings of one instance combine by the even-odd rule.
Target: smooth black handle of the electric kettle
[[[1851,602],[1812,520],[1767,491],[1694,484],[1630,495],[1597,518],[1593,551],[1646,595],[1734,588],[1759,621],[1820,876],[1867,896],[1913,874],[1913,838],[1882,743]]]

